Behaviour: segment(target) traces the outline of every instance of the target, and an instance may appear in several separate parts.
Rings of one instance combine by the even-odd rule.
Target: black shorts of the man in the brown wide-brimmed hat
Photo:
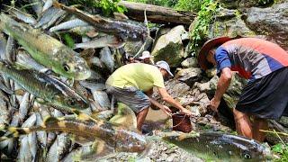
[[[288,115],[288,67],[248,83],[236,105],[245,112],[264,119]]]

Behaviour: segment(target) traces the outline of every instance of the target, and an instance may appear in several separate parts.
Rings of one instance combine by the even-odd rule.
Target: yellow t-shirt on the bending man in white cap
[[[158,67],[143,64],[132,63],[119,67],[107,79],[106,85],[116,87],[134,86],[145,92],[153,86],[165,87],[163,76]]]

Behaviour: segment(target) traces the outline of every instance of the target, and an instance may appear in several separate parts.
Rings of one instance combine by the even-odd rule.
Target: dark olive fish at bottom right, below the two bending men
[[[208,161],[263,161],[270,156],[269,151],[256,140],[231,134],[183,133],[162,139]]]

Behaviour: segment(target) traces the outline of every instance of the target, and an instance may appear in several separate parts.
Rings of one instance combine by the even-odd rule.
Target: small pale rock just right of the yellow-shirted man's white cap
[[[189,86],[193,86],[193,84],[202,79],[202,70],[199,67],[190,67],[181,69],[175,75],[175,78],[179,81],[184,82]]]

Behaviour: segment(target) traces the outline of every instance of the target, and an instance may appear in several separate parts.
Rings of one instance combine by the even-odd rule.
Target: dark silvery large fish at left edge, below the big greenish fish
[[[55,76],[33,69],[16,69],[0,62],[0,72],[21,85],[28,93],[42,99],[44,102],[57,106],[59,109],[71,112],[71,109],[83,110],[89,103],[74,89],[60,82]],[[38,102],[41,102],[38,100]]]

